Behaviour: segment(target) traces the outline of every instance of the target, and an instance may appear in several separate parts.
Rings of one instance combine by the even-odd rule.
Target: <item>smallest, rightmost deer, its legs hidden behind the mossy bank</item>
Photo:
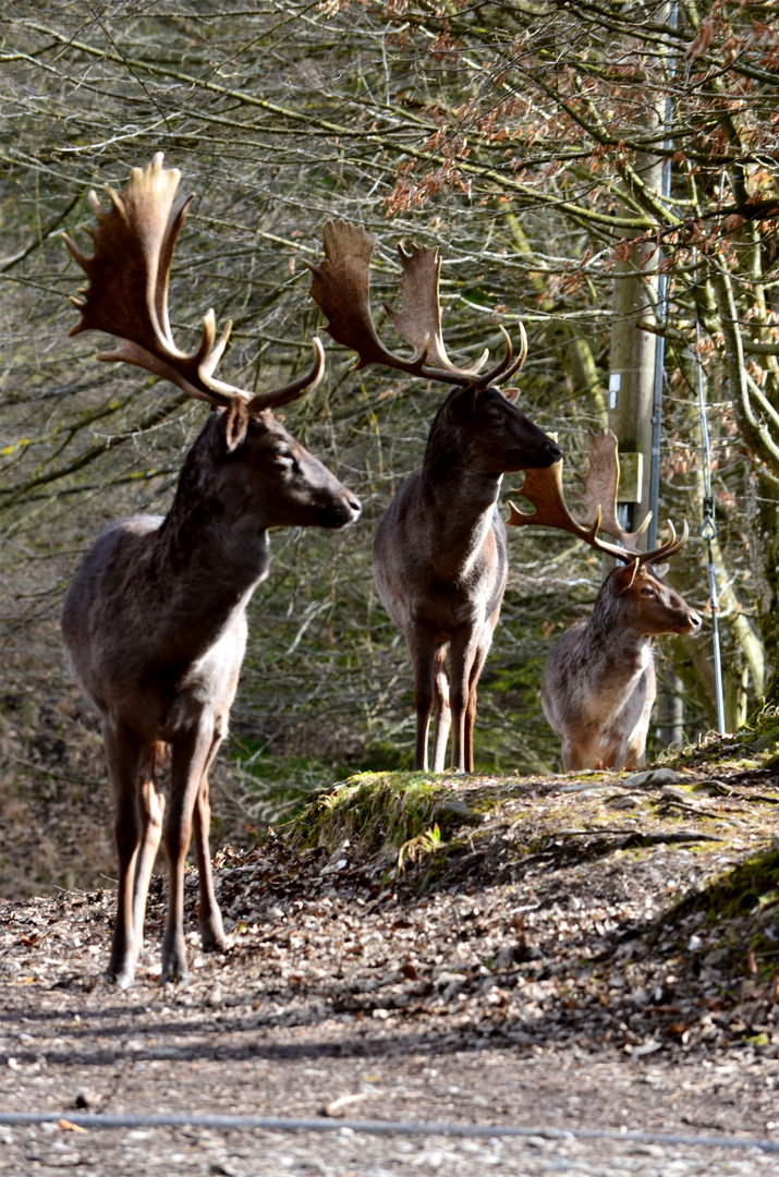
[[[578,496],[587,516],[577,523],[562,496],[562,463],[531,471],[520,491],[535,514],[510,504],[510,526],[534,524],[555,527],[584,539],[624,561],[601,585],[592,616],[567,630],[552,647],[541,676],[541,703],[550,726],[562,742],[566,772],[580,769],[638,767],[644,760],[646,733],[655,696],[652,638],[661,633],[691,636],[700,630],[698,613],[650,568],[668,559],[686,543],[685,523],[677,540],[651,552],[635,547],[639,531],[622,531],[617,520],[619,463],[617,438],[591,432],[590,468]],[[624,546],[597,536],[605,531]]]

